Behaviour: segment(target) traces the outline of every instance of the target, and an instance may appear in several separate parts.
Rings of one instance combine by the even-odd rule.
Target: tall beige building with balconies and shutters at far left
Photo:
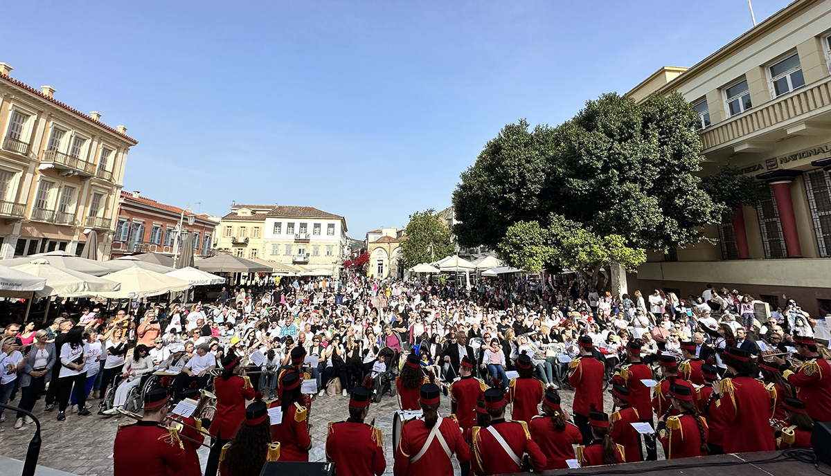
[[[0,258],[81,253],[89,233],[109,256],[127,153],[138,141],[11,72],[0,63]]]

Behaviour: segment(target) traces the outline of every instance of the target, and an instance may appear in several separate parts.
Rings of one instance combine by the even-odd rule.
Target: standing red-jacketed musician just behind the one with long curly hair
[[[216,476],[219,454],[223,446],[234,438],[245,420],[245,401],[253,400],[254,389],[247,376],[239,375],[239,357],[231,354],[222,361],[222,375],[214,378],[216,413],[210,425],[211,445],[205,476]]]

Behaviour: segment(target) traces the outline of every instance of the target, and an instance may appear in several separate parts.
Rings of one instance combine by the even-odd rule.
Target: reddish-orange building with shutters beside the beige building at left
[[[141,196],[137,191],[121,191],[116,232],[113,236],[111,258],[136,253],[162,253],[173,256],[180,240],[193,240],[194,255],[207,257],[213,253],[215,228],[218,220],[190,209],[161,204]],[[183,233],[176,239],[181,220]]]

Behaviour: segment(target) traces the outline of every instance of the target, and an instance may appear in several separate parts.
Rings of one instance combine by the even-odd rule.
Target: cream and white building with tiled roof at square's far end
[[[219,223],[217,248],[337,276],[349,253],[347,221],[314,207],[234,204]]]

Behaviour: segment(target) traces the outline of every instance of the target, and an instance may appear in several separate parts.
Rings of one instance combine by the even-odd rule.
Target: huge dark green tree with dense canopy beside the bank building
[[[696,176],[696,120],[677,93],[642,105],[607,94],[553,129],[507,125],[455,189],[456,236],[496,247],[514,223],[548,228],[553,213],[631,249],[696,243],[721,213]]]

